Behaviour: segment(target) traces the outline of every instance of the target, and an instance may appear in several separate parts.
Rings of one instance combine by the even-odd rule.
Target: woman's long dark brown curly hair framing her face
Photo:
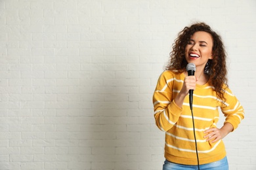
[[[173,43],[173,50],[170,52],[170,59],[165,70],[177,71],[178,73],[186,71],[186,65],[188,64],[185,58],[186,44],[188,44],[190,37],[197,31],[205,31],[213,38],[213,59],[209,59],[207,65],[205,65],[204,73],[209,76],[209,84],[215,88],[217,97],[224,101],[223,86],[228,86],[226,78],[226,51],[224,50],[221,37],[209,25],[199,22],[190,25],[190,27],[184,27],[179,32],[175,43]]]

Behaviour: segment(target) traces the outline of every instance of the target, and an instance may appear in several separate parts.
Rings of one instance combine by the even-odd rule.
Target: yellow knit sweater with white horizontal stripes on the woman
[[[175,163],[196,165],[196,146],[188,95],[182,108],[173,99],[180,92],[185,75],[165,71],[158,79],[153,95],[156,125],[165,131],[165,158]],[[194,124],[200,164],[218,161],[226,156],[223,141],[205,141],[203,131],[217,127],[219,108],[234,129],[244,118],[244,109],[229,88],[224,88],[226,101],[217,99],[213,86],[196,84],[193,99]]]

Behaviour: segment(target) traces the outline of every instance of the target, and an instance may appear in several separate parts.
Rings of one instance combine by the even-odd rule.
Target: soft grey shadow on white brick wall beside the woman
[[[163,158],[164,138],[154,124],[152,94],[139,94],[139,84],[104,72],[109,75],[91,80],[96,84],[88,95],[92,104],[84,112],[87,124],[81,141],[90,152],[83,161],[91,163],[91,169],[159,169],[156,161]],[[125,77],[125,71],[121,73]]]

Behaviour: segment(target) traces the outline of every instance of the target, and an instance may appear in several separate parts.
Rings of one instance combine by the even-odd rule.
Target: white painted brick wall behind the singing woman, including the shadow
[[[256,169],[256,1],[1,0],[0,169],[161,169],[152,93],[181,29],[228,51],[245,120],[231,170]]]

